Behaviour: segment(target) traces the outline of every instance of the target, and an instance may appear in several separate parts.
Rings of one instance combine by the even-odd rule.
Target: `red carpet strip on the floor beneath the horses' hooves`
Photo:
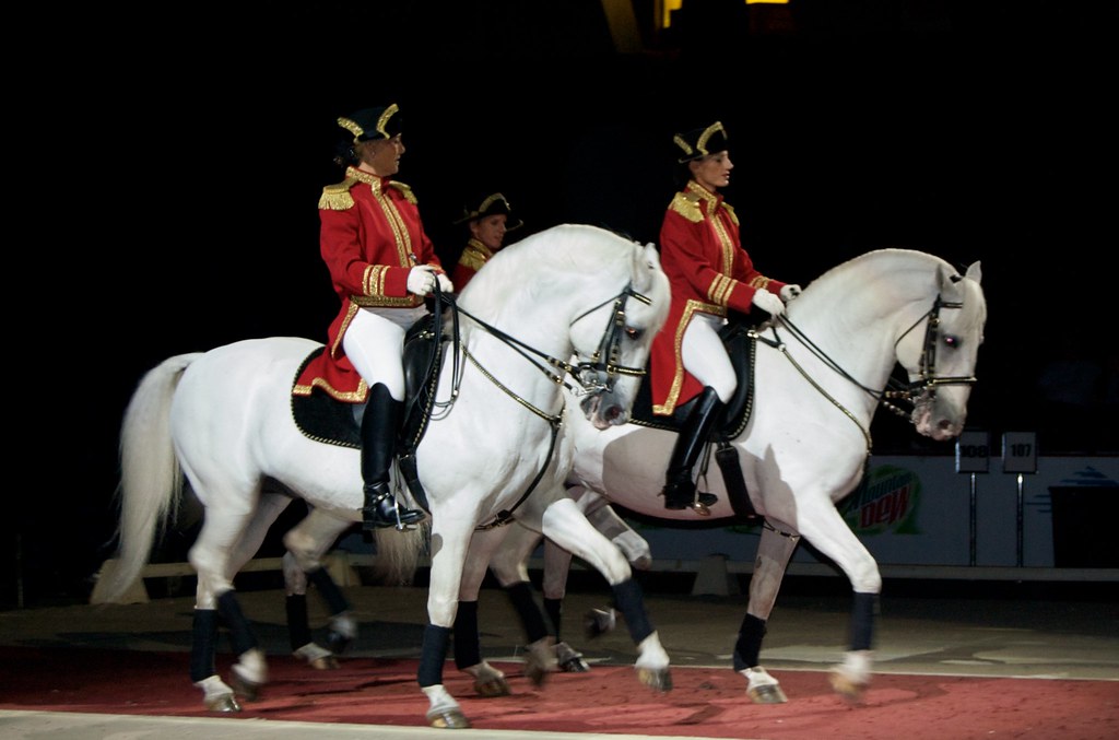
[[[223,676],[229,659],[219,658]],[[213,716],[185,653],[0,647],[0,709]],[[820,672],[774,671],[789,702],[756,705],[728,668],[674,668],[671,692],[638,684],[630,666],[555,674],[533,686],[495,663],[514,695],[478,697],[448,664],[448,690],[474,729],[817,740],[1119,738],[1119,682],[877,675],[864,701],[835,695]],[[415,661],[349,658],[313,671],[270,658],[271,681],[245,719],[426,727]]]

